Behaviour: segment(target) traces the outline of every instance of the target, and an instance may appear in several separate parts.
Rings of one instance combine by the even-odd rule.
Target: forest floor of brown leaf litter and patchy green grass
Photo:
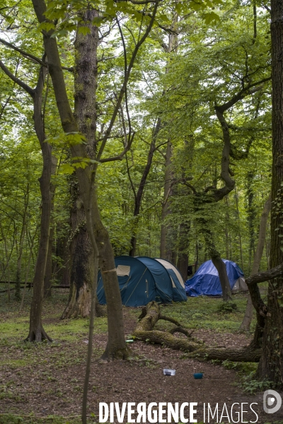
[[[23,343],[28,335],[30,294],[23,312],[19,305],[7,303],[6,293],[0,295],[0,424],[77,424],[80,423],[81,396],[88,344],[88,319],[61,320],[60,314],[67,302],[67,290],[54,290],[53,298],[45,302],[43,322],[54,342]],[[210,346],[240,348],[249,343],[252,332],[238,331],[246,307],[246,295],[233,296],[238,309],[220,314],[221,299],[188,298],[183,304],[163,306],[163,314],[177,319],[193,336]],[[124,308],[125,331],[131,337],[141,310]],[[158,329],[172,324],[158,322]],[[101,361],[107,341],[107,319],[98,318],[93,337],[93,361],[88,394],[89,423],[98,423],[99,402],[197,402],[198,423],[204,420],[203,404],[209,403],[214,411],[219,406],[218,420],[226,404],[221,423],[257,422],[283,424],[282,409],[266,414],[262,409],[260,387],[248,375],[256,369],[254,363],[217,363],[193,360],[181,351],[141,341],[130,344],[132,359],[128,361]],[[174,368],[174,377],[163,375],[163,368]],[[194,379],[194,372],[203,372],[203,379]],[[245,391],[248,389],[252,394]],[[258,414],[250,410],[250,404]],[[243,405],[243,418],[238,419],[238,405]]]

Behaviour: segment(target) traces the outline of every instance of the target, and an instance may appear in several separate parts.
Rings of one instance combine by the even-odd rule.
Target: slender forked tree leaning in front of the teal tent
[[[64,133],[67,134],[67,138],[69,134],[71,134],[71,136],[73,136],[73,138],[76,140],[75,143],[70,143],[71,155],[74,160],[74,167],[76,168],[76,174],[79,180],[81,197],[86,210],[86,226],[88,235],[91,239],[93,251],[96,251],[96,248],[98,248],[99,252],[100,270],[103,273],[105,297],[108,305],[108,345],[106,346],[103,358],[125,358],[128,355],[128,350],[124,338],[122,301],[120,297],[119,285],[117,283],[117,274],[115,272],[114,255],[112,252],[108,232],[100,219],[98,199],[94,182],[98,161],[103,163],[117,159],[102,158],[103,151],[105,144],[108,141],[108,137],[110,136],[117,112],[120,110],[122,98],[125,94],[125,91],[127,90],[127,82],[132,71],[132,66],[134,65],[135,57],[137,56],[139,47],[143,44],[144,40],[146,40],[146,37],[151,30],[151,27],[154,23],[154,18],[156,16],[158,4],[154,4],[153,13],[149,20],[149,25],[147,26],[144,35],[140,38],[139,42],[137,42],[137,45],[132,52],[132,57],[128,66],[127,62],[125,61],[124,82],[122,84],[120,94],[117,97],[117,104],[112,114],[112,118],[110,119],[108,129],[105,131],[105,136],[103,137],[103,141],[98,149],[96,159],[94,160],[95,163],[93,165],[89,165],[89,163],[92,163],[92,160],[87,155],[86,149],[81,143],[81,136],[79,136],[79,143],[77,142],[78,138],[76,138],[76,136],[74,137],[75,134],[79,133],[79,126],[76,124],[74,114],[71,112],[57,42],[54,37],[54,30],[49,30],[50,26],[48,26],[53,24],[46,16],[48,15],[47,7],[43,0],[33,0],[33,6],[37,20],[43,26],[43,28],[45,28],[42,30],[43,41],[48,57],[49,71],[52,78],[54,95],[57,100],[57,107],[62,122],[62,128]],[[53,10],[51,13],[52,12]],[[84,123],[86,124],[86,122]],[[132,139],[133,138],[129,137],[128,145],[122,152],[122,156],[125,155],[125,153],[127,153],[129,150]],[[122,158],[122,156],[118,156],[118,158]],[[80,165],[80,161],[86,160],[85,158],[87,158],[86,165]],[[79,164],[76,165],[76,163]]]

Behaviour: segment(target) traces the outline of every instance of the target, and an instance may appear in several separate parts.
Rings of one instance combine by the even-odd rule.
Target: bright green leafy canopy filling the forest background
[[[13,44],[41,58],[42,35],[31,3],[24,1],[15,6],[7,0],[5,4],[7,11],[2,11],[1,30],[13,40]],[[92,23],[82,18],[81,11],[88,4],[100,11]],[[115,109],[125,76],[125,58],[129,64],[153,8],[154,4],[113,0],[48,2],[47,21],[40,30],[51,30],[54,36],[59,36],[57,42],[62,65],[69,70],[76,66],[74,31],[87,36],[88,26],[99,26],[102,38],[98,46],[97,148]],[[116,18],[123,34],[125,52]],[[197,260],[201,264],[209,259],[203,235],[208,229],[221,256],[238,262],[246,274],[250,273],[258,241],[258,222],[271,178],[267,11],[258,7],[256,37],[253,24],[253,6],[248,3],[204,0],[158,4],[154,28],[137,54],[127,84],[127,105],[124,99],[103,158],[119,155],[131,131],[135,133],[134,143],[127,158],[101,164],[96,175],[100,213],[115,254],[128,254],[131,237],[137,235],[136,253],[158,257],[161,223],[165,223],[169,227],[168,248],[175,250],[177,259],[185,253],[190,264]],[[35,87],[39,65],[6,45],[0,45],[0,49],[8,69],[30,87]],[[74,73],[64,69],[64,78],[71,107],[74,107]],[[16,279],[17,249],[25,228],[25,214],[28,225],[21,257],[23,282],[28,272],[29,256],[28,281],[32,278],[37,256],[37,223],[41,212],[38,178],[42,158],[33,129],[31,99],[2,71],[0,85],[1,108],[4,107],[0,109],[0,207],[1,216],[4,216],[1,219],[0,279]],[[221,189],[224,183],[221,179],[223,134],[214,105],[229,102],[248,85],[252,88],[225,112],[231,134],[231,172],[236,181],[236,192],[234,190],[216,204],[212,201],[213,190]],[[53,262],[56,264],[52,278],[54,282],[60,282],[66,263],[58,247],[66,240],[69,246],[74,235],[69,226],[69,189],[76,183],[70,182],[74,178],[70,175],[77,168],[95,165],[96,160],[87,155],[70,159],[69,148],[86,143],[86,140],[76,132],[62,134],[50,78],[43,94],[45,132],[57,158],[56,175],[52,177],[55,185]],[[130,122],[127,122],[127,110]],[[139,216],[134,217],[135,196],[158,119],[161,119],[161,128],[156,135],[156,150],[144,184]],[[172,196],[168,199],[171,213],[162,220],[162,204],[166,197],[164,155],[168,140],[172,143]],[[250,173],[253,177],[249,180]],[[253,213],[250,213],[248,190],[253,194]],[[200,225],[202,218],[205,225]],[[31,247],[33,236],[34,245]],[[269,245],[267,235],[261,269],[267,267]]]

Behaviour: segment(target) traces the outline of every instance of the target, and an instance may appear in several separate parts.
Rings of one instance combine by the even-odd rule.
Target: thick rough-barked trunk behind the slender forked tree
[[[97,48],[98,27],[92,20],[98,17],[95,9],[82,11],[75,40],[76,67],[74,73],[75,110],[74,117],[79,131],[86,136],[87,153],[94,159],[96,155],[96,86],[97,86]],[[87,27],[89,33],[80,33],[81,27]],[[86,213],[76,177],[71,177],[72,244],[71,279],[69,303],[62,319],[71,316],[88,317],[91,312],[91,288],[94,276],[94,258],[91,240],[86,230]]]

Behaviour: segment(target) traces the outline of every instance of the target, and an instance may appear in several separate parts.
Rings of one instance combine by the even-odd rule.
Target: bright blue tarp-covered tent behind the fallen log
[[[232,291],[248,290],[241,268],[235,262],[227,261],[226,259],[223,259],[223,261],[226,265]],[[185,290],[188,296],[194,297],[200,295],[222,295],[218,271],[212,261],[204,262],[195,275],[185,282]]]

